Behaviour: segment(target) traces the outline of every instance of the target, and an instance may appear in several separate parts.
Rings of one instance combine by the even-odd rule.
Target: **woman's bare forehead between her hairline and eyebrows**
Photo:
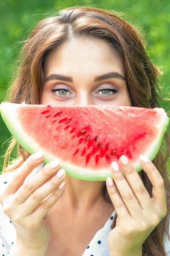
[[[45,61],[45,76],[51,73],[124,73],[124,64],[116,49],[104,40],[72,40],[53,50]]]

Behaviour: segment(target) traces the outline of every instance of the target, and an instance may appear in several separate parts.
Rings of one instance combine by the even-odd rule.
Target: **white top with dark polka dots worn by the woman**
[[[25,179],[25,181],[34,175],[36,172],[40,171],[45,163],[40,163],[37,168],[35,168]],[[6,184],[14,176],[14,172],[7,172],[0,175],[0,194],[6,187]],[[24,182],[25,182],[24,181]],[[111,231],[111,225],[113,223],[113,217],[116,211],[114,211],[109,217],[108,221],[105,223],[102,229],[98,230],[94,238],[86,247],[82,256],[109,256],[109,246],[108,246],[108,235]],[[7,256],[11,250],[12,245],[15,243],[16,239],[16,229],[12,224],[11,220],[3,212],[2,204],[0,204],[0,256]],[[170,241],[164,241],[165,251],[167,256],[170,256]]]

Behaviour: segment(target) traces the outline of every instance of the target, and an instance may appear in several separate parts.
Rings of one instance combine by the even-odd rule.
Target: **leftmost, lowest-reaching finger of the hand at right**
[[[111,185],[112,183],[112,186]],[[119,216],[119,219],[121,218],[131,218],[130,213],[121,197],[121,195],[119,194],[118,189],[116,188],[116,184],[114,183],[114,180],[112,180],[111,177],[107,178],[106,181],[106,187],[108,189],[108,194],[111,198],[112,204],[116,210],[117,215]]]

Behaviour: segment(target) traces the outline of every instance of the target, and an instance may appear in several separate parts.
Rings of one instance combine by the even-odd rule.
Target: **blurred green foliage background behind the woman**
[[[14,61],[19,54],[20,41],[26,39],[38,20],[47,13],[71,6],[93,6],[125,13],[127,21],[142,27],[147,40],[146,51],[150,59],[162,67],[161,96],[170,97],[170,1],[169,0],[1,0],[0,1],[0,102],[11,81]],[[170,111],[170,102],[160,102],[165,111]],[[0,116],[0,172],[3,155],[11,137]],[[4,144],[3,144],[4,143]]]

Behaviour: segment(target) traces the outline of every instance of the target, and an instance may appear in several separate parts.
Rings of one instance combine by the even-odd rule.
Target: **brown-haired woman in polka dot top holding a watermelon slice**
[[[148,58],[141,38],[142,33],[116,12],[79,6],[64,9],[56,17],[41,20],[28,36],[6,100],[160,107],[156,88],[161,73]],[[102,80],[96,78],[106,73]],[[141,156],[141,172],[124,156],[119,159],[121,171],[113,163],[111,187],[109,180],[77,180],[65,172],[57,178],[59,163],[55,168],[51,163],[44,166],[40,152],[36,160],[37,153],[30,156],[20,145],[18,160],[6,168],[14,145],[17,142],[12,139],[0,176],[4,220],[0,232],[6,246],[11,243],[6,232],[16,229],[14,244],[3,247],[5,256],[8,252],[15,256],[170,255],[170,241],[165,243],[165,238],[170,239],[167,132],[152,162]],[[62,181],[65,184],[59,189]],[[9,219],[13,230],[5,222]]]

